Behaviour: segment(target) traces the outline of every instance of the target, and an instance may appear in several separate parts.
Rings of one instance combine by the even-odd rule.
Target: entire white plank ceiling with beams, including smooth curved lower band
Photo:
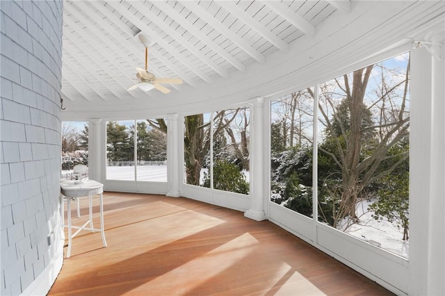
[[[128,119],[272,98],[410,50],[444,31],[445,1],[65,0],[63,14],[62,119]],[[148,71],[184,81],[168,94],[127,90],[145,67],[140,34]]]

